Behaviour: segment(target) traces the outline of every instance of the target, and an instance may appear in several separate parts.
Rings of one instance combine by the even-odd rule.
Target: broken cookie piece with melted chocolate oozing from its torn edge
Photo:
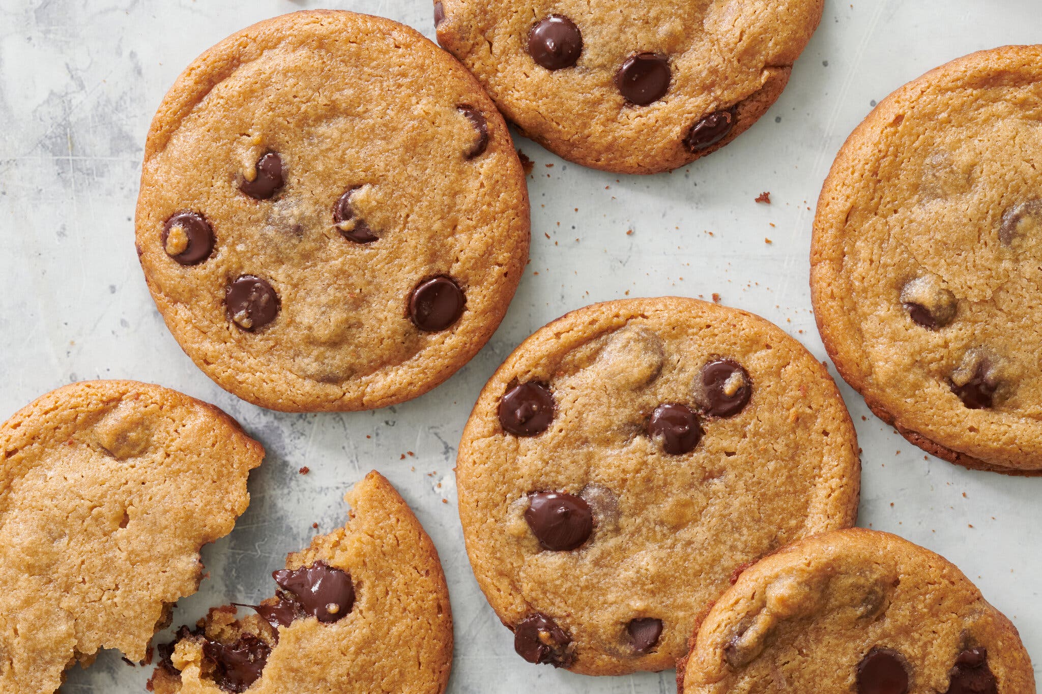
[[[378,472],[346,496],[346,528],[272,573],[275,596],[216,608],[159,647],[156,694],[441,694],[452,614],[438,551]]]

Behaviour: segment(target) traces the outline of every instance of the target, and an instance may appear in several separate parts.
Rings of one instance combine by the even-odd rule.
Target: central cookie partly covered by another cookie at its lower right
[[[836,385],[777,327],[693,299],[607,302],[521,343],[456,461],[471,566],[515,647],[587,674],[673,667],[733,572],[853,524]]]

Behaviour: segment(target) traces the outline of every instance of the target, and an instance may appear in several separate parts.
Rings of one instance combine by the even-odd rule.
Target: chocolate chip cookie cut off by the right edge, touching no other
[[[811,288],[837,369],[910,441],[1042,469],[1042,47],[938,68],[884,99],[818,201]]]

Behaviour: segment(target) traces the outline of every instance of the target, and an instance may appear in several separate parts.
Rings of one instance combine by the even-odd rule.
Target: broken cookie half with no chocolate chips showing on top
[[[101,648],[146,660],[263,458],[216,407],[133,381],[65,386],[0,426],[0,691],[55,692]]]

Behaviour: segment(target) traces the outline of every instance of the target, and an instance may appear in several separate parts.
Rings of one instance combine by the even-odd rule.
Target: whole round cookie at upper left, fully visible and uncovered
[[[528,253],[495,105],[390,20],[300,11],[203,53],[145,145],[152,298],[221,387],[287,411],[416,397],[488,341]]]

